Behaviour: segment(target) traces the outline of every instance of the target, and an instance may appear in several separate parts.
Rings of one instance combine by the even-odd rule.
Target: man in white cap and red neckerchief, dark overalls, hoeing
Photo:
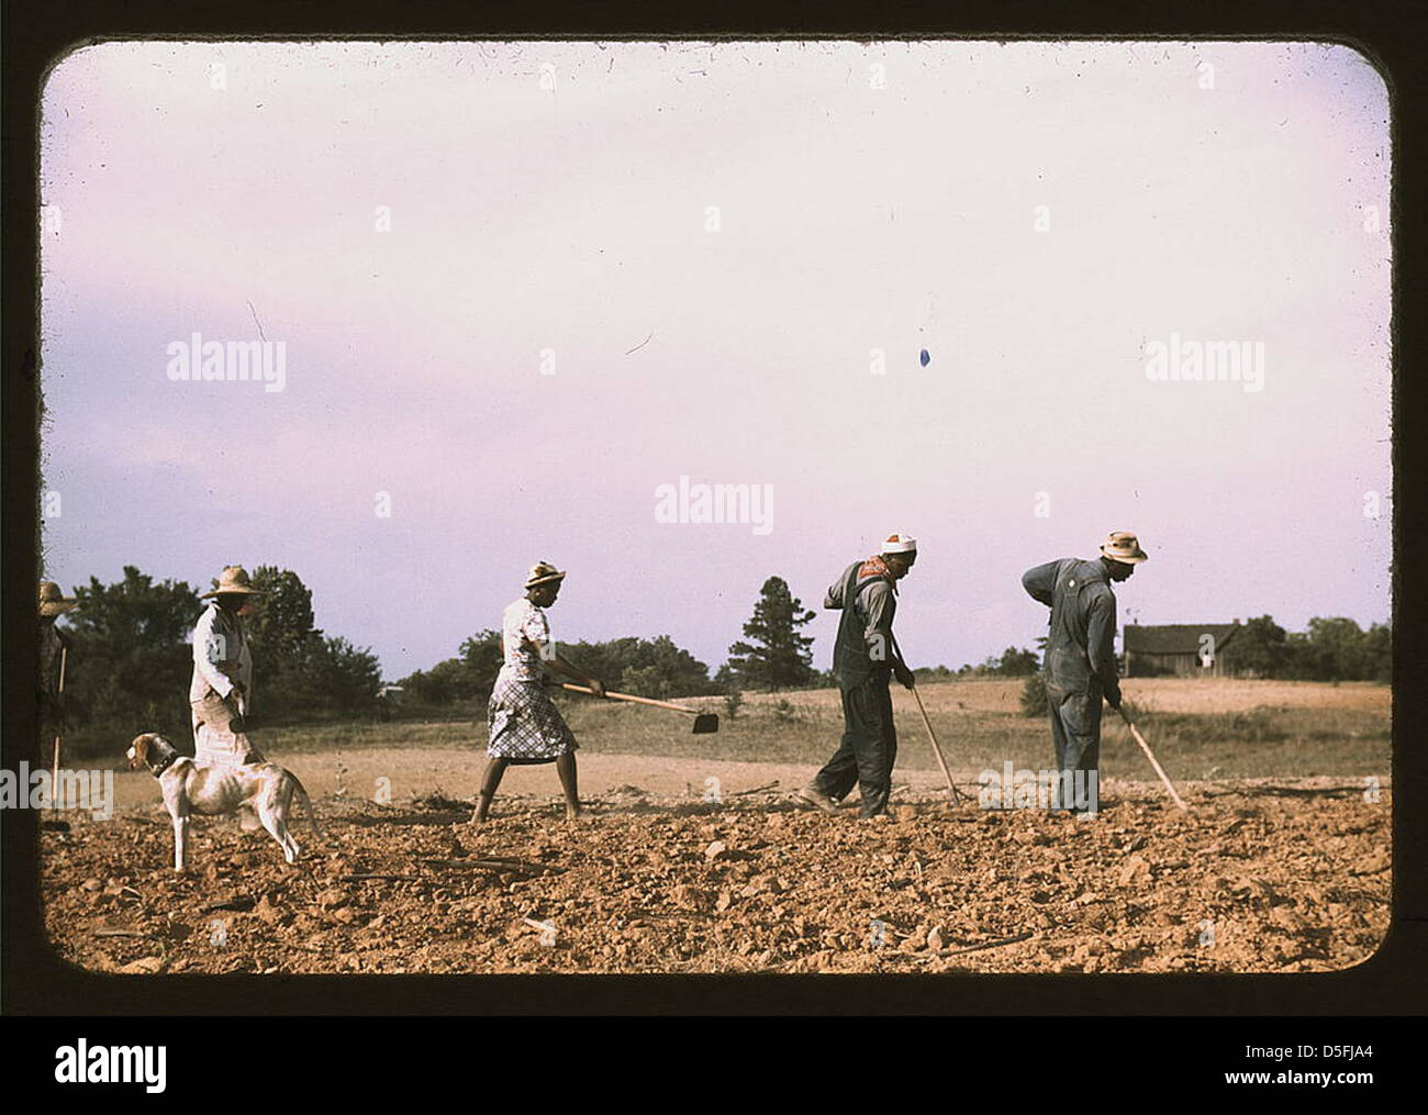
[[[892,615],[897,582],[915,561],[917,540],[890,534],[881,553],[854,561],[828,588],[823,607],[843,611],[833,648],[833,672],[843,695],[843,742],[813,782],[794,792],[803,805],[838,812],[834,799],[857,784],[863,792],[860,817],[887,812],[897,760],[888,680],[895,675],[910,690],[914,684],[892,641]]]

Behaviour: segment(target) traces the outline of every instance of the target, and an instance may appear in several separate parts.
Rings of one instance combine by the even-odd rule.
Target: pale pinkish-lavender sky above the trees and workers
[[[1021,572],[1111,530],[1122,621],[1384,621],[1391,154],[1339,46],[86,47],[43,100],[44,575],[291,568],[388,678],[538,560],[557,638],[713,668],[767,577],[817,608],[894,530],[914,665],[1031,645]],[[283,390],[170,378],[260,328]],[[1172,334],[1262,378],[1150,378]],[[681,475],[771,530],[657,521]]]

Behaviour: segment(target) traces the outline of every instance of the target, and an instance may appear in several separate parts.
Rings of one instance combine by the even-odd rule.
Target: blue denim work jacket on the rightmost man
[[[1100,561],[1061,558],[1027,570],[1021,585],[1051,608],[1047,684],[1062,692],[1088,691],[1120,700],[1115,664],[1115,592]]]

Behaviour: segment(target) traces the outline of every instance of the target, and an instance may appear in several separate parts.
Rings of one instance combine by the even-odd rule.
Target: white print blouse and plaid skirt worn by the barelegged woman
[[[508,762],[554,762],[580,747],[541,678],[545,668],[536,644],[553,647],[545,612],[521,597],[501,618],[501,672],[496,675],[486,721],[486,754]]]

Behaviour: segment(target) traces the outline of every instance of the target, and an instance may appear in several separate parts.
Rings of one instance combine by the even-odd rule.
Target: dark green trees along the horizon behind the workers
[[[257,598],[244,624],[256,662],[254,725],[308,724],[338,718],[413,715],[420,710],[463,711],[484,705],[501,668],[501,632],[478,631],[457,654],[403,678],[403,705],[381,697],[381,665],[368,647],[327,635],[314,625],[313,592],[291,570],[260,565]],[[184,581],[156,581],[133,565],[114,584],[76,588],[80,605],[66,615],[71,642],[64,692],[67,740],[100,748],[127,742],[140,731],[188,737],[188,681],[193,627],[204,607]],[[713,675],[708,665],[668,635],[563,644],[583,670],[620,692],[638,697],[698,697],[745,690],[801,690],[833,685],[813,667],[813,637],[803,634],[815,612],[781,577],[760,590],[743,638]],[[1287,632],[1268,615],[1250,620],[1227,647],[1232,670],[1267,678],[1311,681],[1388,681],[1391,637],[1387,624],[1367,631],[1345,617],[1314,618],[1304,632]],[[1008,647],[980,665],[920,668],[925,681],[954,677],[1027,677],[1035,651]]]

